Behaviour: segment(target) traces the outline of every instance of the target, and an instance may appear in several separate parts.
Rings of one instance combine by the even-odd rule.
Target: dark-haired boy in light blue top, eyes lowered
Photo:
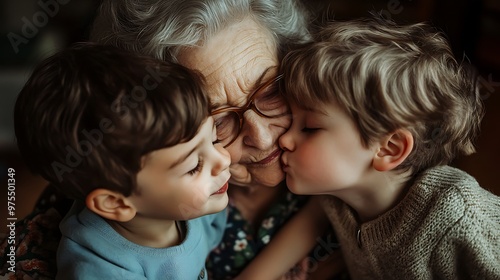
[[[180,65],[93,44],[34,70],[15,107],[19,150],[75,199],[58,279],[206,279],[230,158],[201,84]]]

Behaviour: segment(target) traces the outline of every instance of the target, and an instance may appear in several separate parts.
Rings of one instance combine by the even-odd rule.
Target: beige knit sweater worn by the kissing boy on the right
[[[500,197],[461,170],[427,170],[363,224],[339,199],[323,202],[352,279],[500,279]]]

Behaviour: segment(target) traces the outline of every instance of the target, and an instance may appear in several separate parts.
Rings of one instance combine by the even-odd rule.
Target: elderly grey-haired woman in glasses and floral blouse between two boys
[[[105,0],[95,19],[91,40],[171,59],[205,77],[232,161],[228,228],[207,265],[213,279],[236,276],[306,203],[283,182],[277,140],[290,118],[277,83],[287,48],[309,40],[307,21],[292,0]],[[308,263],[332,252],[331,239],[320,243],[326,252],[319,248]]]

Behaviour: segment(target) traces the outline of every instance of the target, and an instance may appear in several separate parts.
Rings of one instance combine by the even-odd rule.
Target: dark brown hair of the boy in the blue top
[[[19,150],[77,199],[136,191],[141,157],[190,140],[210,108],[192,71],[110,46],[79,44],[38,65],[14,112]]]

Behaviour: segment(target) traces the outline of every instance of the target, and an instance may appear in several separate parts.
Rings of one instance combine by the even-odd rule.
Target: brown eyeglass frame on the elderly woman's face
[[[261,93],[261,91],[265,88],[267,88],[268,86],[272,85],[273,83],[276,83],[278,82],[279,80],[283,79],[283,74],[279,74],[278,76],[276,76],[275,78],[265,82],[264,84],[260,85],[251,95],[250,97],[248,98],[248,101],[245,105],[243,105],[242,107],[237,107],[237,106],[223,106],[223,107],[219,107],[215,110],[213,110],[211,112],[211,116],[214,116],[214,115],[217,115],[217,114],[221,114],[221,113],[225,113],[225,112],[234,112],[238,115],[238,118],[239,118],[239,126],[238,126],[238,133],[235,134],[235,136],[233,137],[233,139],[231,139],[231,141],[229,141],[228,144],[224,145],[224,148],[230,146],[231,144],[233,144],[233,142],[238,138],[238,136],[240,135],[241,133],[241,129],[243,128],[243,114],[245,114],[246,111],[248,110],[252,110],[254,111],[255,113],[257,113],[257,115],[261,116],[261,117],[264,117],[264,118],[279,118],[279,117],[283,117],[285,115],[288,115],[289,113],[286,112],[286,113],[283,113],[283,114],[279,114],[279,115],[276,115],[276,116],[268,116],[264,113],[262,113],[259,108],[257,108],[257,106],[255,105],[255,99],[259,96],[259,93]]]

